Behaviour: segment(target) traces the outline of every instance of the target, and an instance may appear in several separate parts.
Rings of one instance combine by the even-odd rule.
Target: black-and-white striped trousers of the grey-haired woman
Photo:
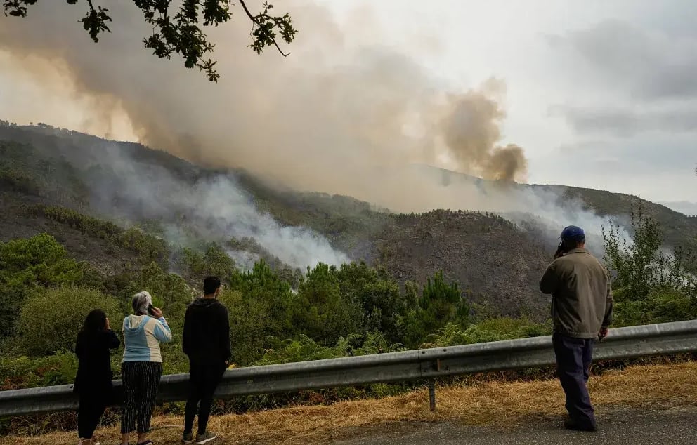
[[[121,434],[150,431],[150,418],[162,377],[162,363],[155,361],[124,361],[121,378],[124,382],[124,405],[121,409]]]

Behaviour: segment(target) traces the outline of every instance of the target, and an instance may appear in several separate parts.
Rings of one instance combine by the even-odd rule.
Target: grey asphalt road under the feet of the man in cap
[[[471,427],[456,423],[400,423],[351,432],[334,445],[655,445],[697,444],[697,406],[679,409],[613,409],[597,413],[597,432],[573,432],[563,419],[526,426]],[[346,437],[346,436],[345,436]]]

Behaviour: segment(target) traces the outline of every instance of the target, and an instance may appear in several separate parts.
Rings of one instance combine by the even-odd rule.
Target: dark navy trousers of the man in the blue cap
[[[580,425],[595,426],[593,406],[586,383],[593,355],[594,339],[572,338],[554,333],[556,373],[566,394],[566,411]]]

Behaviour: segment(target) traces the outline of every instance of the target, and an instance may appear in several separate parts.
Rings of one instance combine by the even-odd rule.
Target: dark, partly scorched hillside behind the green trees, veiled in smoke
[[[94,234],[79,232],[74,224],[27,206],[71,208],[119,227],[138,227],[178,248],[202,252],[213,241],[239,266],[249,268],[263,258],[286,274],[294,270],[296,277],[304,269],[297,263],[317,257],[318,250],[329,263],[365,260],[368,265],[381,265],[402,287],[407,281],[423,284],[442,270],[443,277],[457,282],[470,302],[486,303],[496,313],[529,314],[535,319],[547,314],[547,298],[538,293],[536,282],[554,246],[545,242],[540,227],[534,225],[516,225],[467,209],[394,215],[351,197],[280,190],[245,171],[204,169],[138,144],[45,124],[0,125],[0,154],[4,208],[0,239],[46,232],[56,236],[74,258],[87,260],[107,274],[127,269],[133,252],[124,246],[105,246]],[[442,174],[445,180],[463,177],[448,171]],[[580,199],[600,215],[627,221],[632,203],[639,202],[623,194],[574,187],[517,187],[554,190],[559,197]],[[233,206],[221,211],[219,201],[200,205],[200,201],[212,201],[213,193],[204,194],[204,188],[228,197]],[[691,247],[697,242],[697,218],[647,201],[641,204],[644,213],[663,227],[667,244]],[[263,214],[271,215],[273,221],[260,223]],[[300,227],[297,233],[312,241],[304,257],[288,252],[297,245],[278,244],[287,226]],[[316,241],[317,235],[325,239]],[[336,252],[327,253],[332,248]],[[163,267],[176,270],[174,256]]]

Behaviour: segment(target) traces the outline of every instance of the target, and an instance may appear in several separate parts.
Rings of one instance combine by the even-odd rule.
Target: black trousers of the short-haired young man
[[[189,434],[198,414],[198,434],[206,432],[213,405],[213,393],[225,372],[222,361],[189,360],[189,396],[186,401],[184,433]]]

